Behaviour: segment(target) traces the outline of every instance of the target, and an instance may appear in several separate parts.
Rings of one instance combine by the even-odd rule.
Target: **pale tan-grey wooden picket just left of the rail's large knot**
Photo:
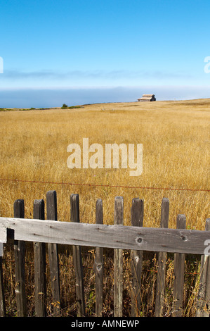
[[[124,201],[122,196],[114,199],[114,225],[123,225]],[[122,317],[123,250],[114,249],[114,317]]]

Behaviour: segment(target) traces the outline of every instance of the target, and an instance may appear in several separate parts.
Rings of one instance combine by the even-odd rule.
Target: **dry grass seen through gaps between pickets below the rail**
[[[93,273],[94,249],[84,249],[84,293],[86,300],[86,316],[96,316],[96,292],[95,275]],[[61,316],[77,316],[77,303],[75,300],[75,274],[70,250],[60,246],[60,293],[61,293]],[[131,268],[129,251],[124,250],[124,273],[123,273],[123,316],[131,316]],[[173,254],[172,254],[173,255]],[[166,296],[164,303],[164,316],[171,316],[173,311],[173,256],[168,255],[166,261]],[[13,259],[12,246],[7,245],[4,255],[4,285],[6,294],[7,316],[16,316],[15,302],[15,263]],[[113,268],[113,250],[105,249],[104,255],[104,287],[103,287],[103,316],[112,317],[114,309],[114,268]],[[187,256],[185,263],[185,285],[183,292],[183,308],[186,317],[195,316],[197,290],[199,285],[199,258],[196,256]],[[47,281],[47,316],[53,316],[53,298],[51,296],[51,281],[49,274],[48,258],[46,259],[46,281]],[[27,245],[27,254],[25,258],[26,274],[26,294],[28,316],[34,316],[34,263],[32,245]],[[139,316],[155,316],[155,295],[157,281],[157,255],[143,261],[143,273],[141,284],[142,306]]]

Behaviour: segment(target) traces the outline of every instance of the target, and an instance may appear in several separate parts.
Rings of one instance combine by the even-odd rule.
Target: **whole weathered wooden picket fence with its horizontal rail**
[[[209,316],[210,306],[210,218],[206,230],[186,230],[184,215],[177,216],[176,229],[169,229],[169,199],[162,199],[161,224],[158,228],[143,227],[143,200],[133,199],[131,226],[124,226],[124,200],[114,199],[114,225],[103,224],[103,201],[96,202],[96,224],[79,223],[79,195],[70,196],[71,222],[57,220],[57,196],[55,191],[46,194],[47,220],[44,220],[44,200],[34,201],[33,219],[25,219],[23,200],[14,203],[14,217],[0,218],[0,242],[14,240],[15,294],[18,316],[27,316],[25,295],[25,242],[34,246],[35,314],[46,316],[46,244],[51,272],[51,288],[54,301],[53,316],[60,316],[60,279],[58,244],[72,245],[76,276],[77,316],[86,316],[84,299],[81,246],[96,247],[93,270],[96,276],[96,316],[103,311],[103,248],[114,249],[114,317],[122,316],[123,249],[131,251],[131,316],[139,316],[141,306],[140,282],[143,251],[158,252],[155,316],[162,316],[165,296],[166,254],[174,253],[173,313],[183,316],[183,284],[185,254],[200,254],[199,291],[196,316]],[[205,250],[206,249],[206,250]],[[2,257],[0,256],[0,316],[6,315]]]

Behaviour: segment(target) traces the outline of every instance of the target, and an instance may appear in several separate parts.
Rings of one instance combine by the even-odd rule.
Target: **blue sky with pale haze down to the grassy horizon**
[[[0,107],[209,97],[209,12],[209,0],[1,0]]]

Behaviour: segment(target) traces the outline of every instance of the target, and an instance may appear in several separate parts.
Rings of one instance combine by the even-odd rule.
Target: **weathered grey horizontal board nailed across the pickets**
[[[204,254],[209,231],[0,218],[0,229],[13,229],[16,240],[79,246]],[[3,240],[2,240],[3,239]],[[1,234],[1,242],[6,237]]]

